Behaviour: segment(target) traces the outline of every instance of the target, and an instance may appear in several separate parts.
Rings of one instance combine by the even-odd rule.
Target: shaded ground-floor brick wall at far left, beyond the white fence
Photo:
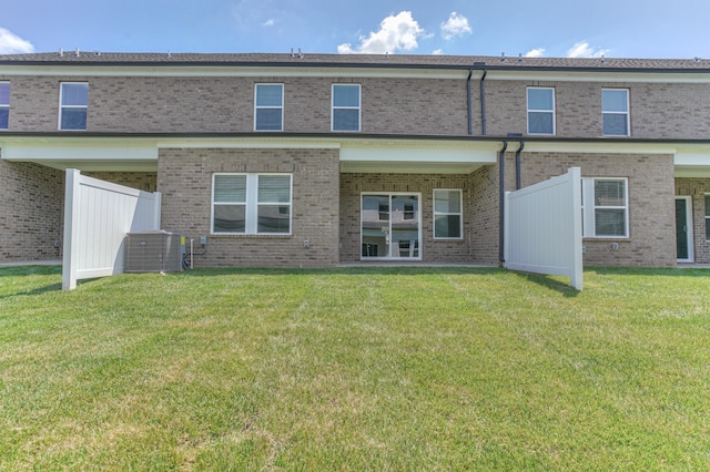
[[[63,195],[62,171],[0,160],[0,263],[61,258]]]

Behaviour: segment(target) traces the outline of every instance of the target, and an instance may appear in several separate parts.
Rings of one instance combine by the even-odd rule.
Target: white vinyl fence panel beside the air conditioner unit
[[[161,194],[67,170],[62,288],[78,279],[122,274],[128,233],[160,228]]]

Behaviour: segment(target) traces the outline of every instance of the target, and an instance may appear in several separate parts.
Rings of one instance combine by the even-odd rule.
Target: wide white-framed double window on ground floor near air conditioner
[[[214,174],[212,233],[291,234],[291,174]]]

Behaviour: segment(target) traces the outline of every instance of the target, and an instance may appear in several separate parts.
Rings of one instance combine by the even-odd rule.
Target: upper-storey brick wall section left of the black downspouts
[[[465,134],[466,81],[352,78],[0,76],[10,131],[58,130],[62,81],[89,82],[88,131],[252,132],[254,84],[284,84],[284,131],[328,133],[333,83],[362,85],[362,132]],[[406,93],[403,93],[406,91]]]

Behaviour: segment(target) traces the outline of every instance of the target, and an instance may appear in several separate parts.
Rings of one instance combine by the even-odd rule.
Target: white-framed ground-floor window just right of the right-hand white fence
[[[585,237],[629,237],[627,178],[584,177],[582,233]]]

